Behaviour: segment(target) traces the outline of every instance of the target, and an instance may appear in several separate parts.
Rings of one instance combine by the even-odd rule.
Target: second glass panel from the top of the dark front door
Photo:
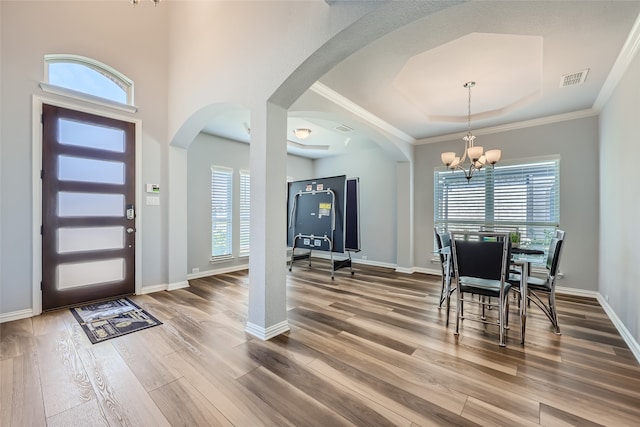
[[[58,156],[58,179],[121,185],[124,184],[124,163]]]

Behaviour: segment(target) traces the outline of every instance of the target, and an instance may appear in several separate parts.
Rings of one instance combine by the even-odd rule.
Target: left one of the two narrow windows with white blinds
[[[211,258],[232,256],[233,169],[211,168]]]

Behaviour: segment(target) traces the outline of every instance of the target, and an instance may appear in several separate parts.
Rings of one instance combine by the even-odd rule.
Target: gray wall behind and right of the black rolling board
[[[315,162],[314,178],[347,175],[360,178],[360,243],[354,259],[396,264],[396,162],[381,149]]]

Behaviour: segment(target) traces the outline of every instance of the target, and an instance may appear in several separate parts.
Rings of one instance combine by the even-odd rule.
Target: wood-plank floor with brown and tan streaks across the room
[[[561,336],[532,306],[524,347],[511,304],[500,348],[495,326],[454,337],[439,277],[327,268],[288,273],[291,331],[267,342],[244,332],[246,271],[134,296],[163,325],[96,345],[69,310],[4,323],[0,425],[640,425],[640,367],[596,300],[559,298]]]

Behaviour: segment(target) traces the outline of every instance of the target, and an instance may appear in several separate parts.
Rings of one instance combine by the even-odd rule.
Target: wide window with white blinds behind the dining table
[[[434,219],[442,230],[518,231],[521,244],[546,249],[560,224],[560,160],[434,172]]]

